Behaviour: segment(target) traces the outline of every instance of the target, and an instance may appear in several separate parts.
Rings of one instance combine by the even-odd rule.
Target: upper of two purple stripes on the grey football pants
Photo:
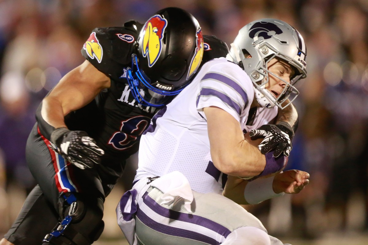
[[[198,216],[198,215],[192,215],[188,213],[181,213],[177,212],[171,209],[164,208],[160,206],[155,200],[153,200],[149,195],[148,192],[146,192],[143,195],[143,202],[151,208],[154,212],[158,213],[159,215],[169,218],[169,219],[175,219],[183,222],[198,224],[203,227],[206,227],[210,230],[216,231],[218,234],[223,235],[225,238],[227,235],[231,233],[229,229],[226,227],[216,223],[215,221],[206,219],[204,217]]]

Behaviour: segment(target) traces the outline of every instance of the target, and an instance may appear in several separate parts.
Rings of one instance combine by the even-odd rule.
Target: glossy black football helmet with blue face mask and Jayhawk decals
[[[132,54],[127,80],[140,104],[161,107],[180,93],[201,64],[201,27],[191,14],[169,7],[144,24]]]

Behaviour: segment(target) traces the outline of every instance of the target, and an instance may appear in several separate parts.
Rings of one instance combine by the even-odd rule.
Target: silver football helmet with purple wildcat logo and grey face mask
[[[230,53],[226,58],[240,65],[251,77],[256,88],[256,99],[262,107],[277,105],[284,109],[298,96],[299,91],[294,84],[307,76],[307,48],[303,37],[295,28],[278,19],[259,19],[241,28],[230,46]],[[247,53],[251,58],[245,57],[244,54]],[[290,78],[290,82],[269,71],[268,62],[277,57],[295,68],[295,75]],[[265,89],[269,74],[286,84],[277,98]],[[290,102],[282,105],[288,98]]]

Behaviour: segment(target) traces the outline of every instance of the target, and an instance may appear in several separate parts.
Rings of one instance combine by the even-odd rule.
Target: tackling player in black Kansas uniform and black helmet
[[[228,49],[216,37],[203,37],[188,12],[165,8],[144,25],[94,29],[81,51],[86,61],[60,80],[36,113],[26,155],[38,185],[1,245],[96,241],[105,197],[153,114],[189,83],[202,55],[211,60]]]

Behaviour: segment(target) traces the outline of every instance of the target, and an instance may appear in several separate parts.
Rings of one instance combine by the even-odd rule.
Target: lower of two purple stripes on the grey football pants
[[[155,220],[148,217],[141,209],[139,209],[138,205],[138,211],[137,211],[137,218],[142,221],[143,224],[148,226],[149,228],[158,231],[163,234],[176,236],[176,237],[183,237],[192,239],[199,242],[205,242],[207,244],[216,244],[219,245],[220,242],[216,241],[213,238],[210,238],[206,235],[203,235],[201,233],[197,233],[195,231],[188,231],[176,227],[166,226],[164,224],[161,224],[159,222],[156,222]]]

